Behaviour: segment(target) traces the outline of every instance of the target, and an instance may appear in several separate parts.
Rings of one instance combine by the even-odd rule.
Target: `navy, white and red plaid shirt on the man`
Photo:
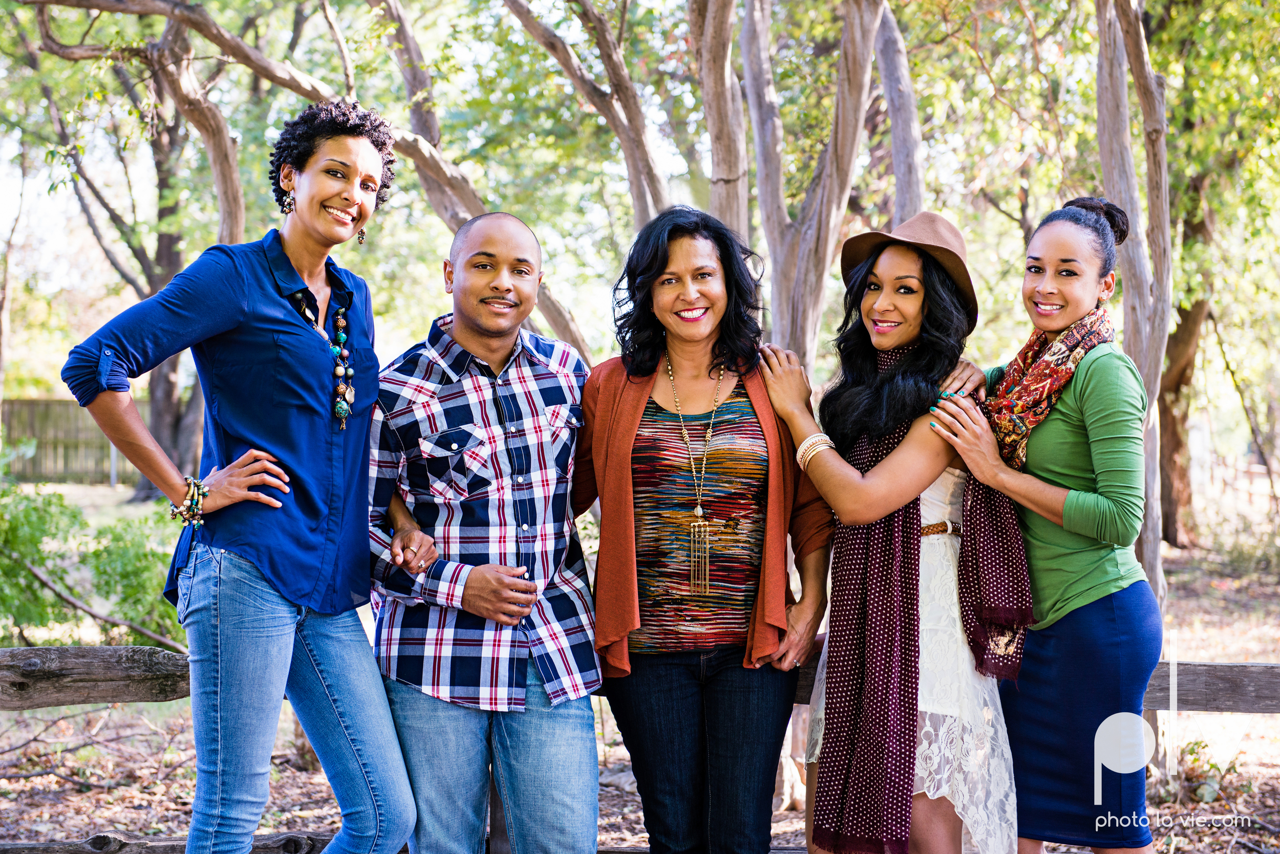
[[[381,372],[370,451],[375,651],[385,676],[439,699],[524,711],[532,656],[552,703],[600,685],[586,561],[570,510],[588,368],[570,345],[521,330],[500,376],[451,336],[453,316]],[[440,552],[411,575],[390,563],[398,491]],[[517,626],[462,610],[481,564],[538,584]]]

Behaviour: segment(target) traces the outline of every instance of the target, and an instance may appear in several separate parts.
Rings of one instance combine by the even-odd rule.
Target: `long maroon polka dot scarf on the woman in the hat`
[[[881,372],[902,353],[879,353]],[[850,464],[870,470],[910,426],[861,437]],[[1012,501],[970,477],[961,531],[960,619],[977,670],[1014,679],[1033,617]],[[869,525],[837,525],[833,550],[813,841],[836,854],[906,854],[920,680],[919,497]]]

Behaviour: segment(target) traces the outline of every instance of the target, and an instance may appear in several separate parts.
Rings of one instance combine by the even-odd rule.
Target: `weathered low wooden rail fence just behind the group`
[[[801,667],[796,703],[809,702],[815,670],[815,661]],[[0,710],[5,711],[81,703],[157,703],[188,693],[187,657],[156,647],[0,649]],[[1147,685],[1143,706],[1169,710],[1169,662],[1161,661]],[[1280,665],[1179,661],[1178,710],[1280,713]],[[495,811],[495,816],[500,817],[500,812]],[[502,826],[500,818],[494,822],[495,828]],[[319,854],[332,839],[305,832],[261,835],[253,837],[253,854]],[[503,842],[495,835],[490,850],[509,851]],[[0,844],[0,854],[182,854],[184,846],[186,837],[180,836],[108,831],[70,842],[5,842]],[[648,849],[599,850],[637,854]]]

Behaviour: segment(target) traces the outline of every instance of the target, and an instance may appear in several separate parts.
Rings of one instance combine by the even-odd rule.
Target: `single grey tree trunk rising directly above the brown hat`
[[[893,220],[890,228],[896,229],[924,210],[924,146],[906,42],[887,3],[876,32],[876,68],[888,104],[893,146]]]

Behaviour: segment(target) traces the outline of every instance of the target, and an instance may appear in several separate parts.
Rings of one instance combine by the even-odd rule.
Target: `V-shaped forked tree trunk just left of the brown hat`
[[[785,141],[769,37],[772,0],[746,0],[741,51],[755,141],[756,194],[772,266],[773,341],[813,368],[827,275],[854,185],[883,0],[844,0],[835,113],[827,147],[795,216],[783,189]]]

